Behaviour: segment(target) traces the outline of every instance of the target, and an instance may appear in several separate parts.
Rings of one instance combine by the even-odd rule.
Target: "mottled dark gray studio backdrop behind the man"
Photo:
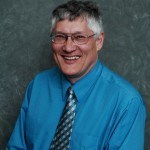
[[[14,128],[29,81],[54,65],[49,46],[50,14],[60,3],[61,0],[0,0],[2,150]],[[142,94],[148,113],[145,150],[150,150],[150,0],[97,3],[105,26],[105,43],[99,57]]]

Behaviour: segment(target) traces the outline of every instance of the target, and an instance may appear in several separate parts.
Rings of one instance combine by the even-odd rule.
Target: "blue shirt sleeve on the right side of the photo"
[[[108,150],[143,150],[146,111],[140,98],[133,98],[118,115]]]

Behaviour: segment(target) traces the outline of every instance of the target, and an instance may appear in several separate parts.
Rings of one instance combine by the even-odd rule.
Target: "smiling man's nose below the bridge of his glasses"
[[[68,38],[64,44],[63,50],[66,52],[72,52],[72,51],[76,50],[76,45],[73,42],[71,36],[68,36]]]

